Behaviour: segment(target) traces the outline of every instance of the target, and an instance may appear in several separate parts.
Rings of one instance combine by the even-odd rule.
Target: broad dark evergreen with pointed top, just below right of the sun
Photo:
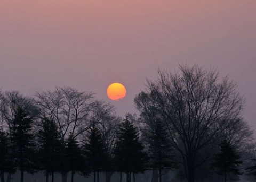
[[[137,174],[145,170],[146,153],[143,152],[137,129],[127,116],[120,127],[114,153],[116,168],[121,177],[122,172],[126,173],[126,182],[131,181],[132,172]]]

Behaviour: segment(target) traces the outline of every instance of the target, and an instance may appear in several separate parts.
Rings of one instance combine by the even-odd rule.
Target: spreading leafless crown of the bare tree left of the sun
[[[50,118],[58,125],[63,142],[69,134],[76,138],[89,129],[92,93],[80,92],[70,87],[57,87],[54,91],[37,92],[36,97],[41,117]]]

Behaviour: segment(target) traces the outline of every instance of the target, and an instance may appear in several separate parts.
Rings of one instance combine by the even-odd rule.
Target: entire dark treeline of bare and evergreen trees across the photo
[[[93,181],[136,181],[152,171],[151,182],[255,180],[252,131],[243,119],[244,98],[227,77],[197,65],[179,73],[159,70],[156,81],[134,99],[139,116],[121,118],[91,92],[56,88],[35,97],[0,93],[0,178],[20,171],[44,172],[45,181],[76,174]],[[125,174],[125,178],[123,175]],[[254,179],[253,179],[254,178]]]

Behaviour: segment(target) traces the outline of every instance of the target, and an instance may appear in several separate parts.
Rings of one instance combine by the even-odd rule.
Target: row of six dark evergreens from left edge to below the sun
[[[125,172],[127,181],[131,181],[132,172],[137,174],[146,168],[147,155],[137,129],[128,118],[119,126],[113,156],[95,123],[91,124],[86,139],[80,144],[71,134],[63,142],[57,124],[48,118],[42,119],[38,131],[33,133],[33,117],[21,107],[15,110],[11,124],[11,134],[7,135],[3,128],[0,131],[2,181],[4,172],[12,174],[17,169],[21,172],[21,182],[25,171],[32,174],[44,171],[46,182],[49,176],[54,181],[57,172],[71,172],[71,182],[76,172],[85,177],[93,172],[94,182],[99,182],[99,172],[102,171]]]

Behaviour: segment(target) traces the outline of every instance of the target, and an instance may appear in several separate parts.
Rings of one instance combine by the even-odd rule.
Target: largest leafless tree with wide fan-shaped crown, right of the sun
[[[231,136],[236,132],[234,128],[241,125],[248,129],[246,123],[241,122],[245,99],[228,77],[219,81],[216,70],[203,70],[194,65],[180,66],[180,71],[172,74],[158,70],[158,80],[148,81],[147,91],[141,92],[135,103],[146,120],[154,120],[152,110],[165,120],[187,179],[194,182],[195,168],[204,162],[196,161],[199,152],[211,146],[222,132]],[[241,139],[245,141],[250,135],[249,132]]]

